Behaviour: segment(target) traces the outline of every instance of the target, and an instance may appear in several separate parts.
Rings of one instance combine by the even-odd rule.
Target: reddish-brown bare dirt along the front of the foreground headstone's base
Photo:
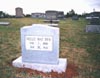
[[[36,70],[32,70],[32,69],[27,69],[27,68],[20,68],[18,69],[17,72],[26,72],[28,73],[30,76],[32,75],[40,75],[42,78],[72,78],[75,76],[78,76],[78,72],[77,72],[77,66],[73,63],[69,63],[66,67],[66,72],[63,73],[57,73],[57,72],[51,72],[51,73],[43,73],[41,71],[36,71]]]

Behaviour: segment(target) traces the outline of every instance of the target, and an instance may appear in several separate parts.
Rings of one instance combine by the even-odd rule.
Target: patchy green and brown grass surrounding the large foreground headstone
[[[12,67],[12,60],[21,55],[20,28],[33,23],[43,23],[42,19],[7,18],[9,26],[0,26],[0,77],[1,78],[41,78],[29,76],[25,71],[18,72]],[[60,57],[78,66],[78,76],[73,78],[100,77],[100,34],[86,33],[87,21],[81,18],[61,20],[60,27]]]

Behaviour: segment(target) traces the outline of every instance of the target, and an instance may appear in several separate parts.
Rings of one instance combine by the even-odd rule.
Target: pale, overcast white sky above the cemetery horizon
[[[45,13],[46,10],[67,12],[73,9],[75,13],[100,11],[100,0],[0,0],[0,11],[15,15],[15,8],[23,8],[24,14],[34,12]]]

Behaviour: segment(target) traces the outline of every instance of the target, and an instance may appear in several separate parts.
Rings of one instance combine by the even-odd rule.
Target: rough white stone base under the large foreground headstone
[[[22,62],[22,57],[20,56],[19,58],[14,60],[12,64],[14,67],[18,67],[18,68],[30,68],[42,72],[54,71],[54,72],[62,73],[66,71],[67,59],[59,58],[59,64],[52,65],[52,64]]]

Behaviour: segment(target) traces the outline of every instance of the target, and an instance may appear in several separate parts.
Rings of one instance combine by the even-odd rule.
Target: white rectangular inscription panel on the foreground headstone
[[[41,50],[52,51],[53,39],[52,36],[26,36],[25,37],[26,50]]]

